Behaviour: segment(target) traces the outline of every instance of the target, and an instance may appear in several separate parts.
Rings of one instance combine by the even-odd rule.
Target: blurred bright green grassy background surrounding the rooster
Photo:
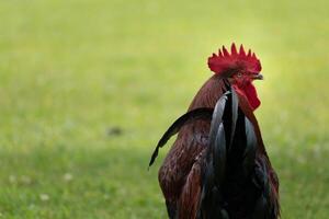
[[[328,1],[1,0],[0,218],[166,218],[149,157],[231,42],[252,48],[282,218],[329,214]]]

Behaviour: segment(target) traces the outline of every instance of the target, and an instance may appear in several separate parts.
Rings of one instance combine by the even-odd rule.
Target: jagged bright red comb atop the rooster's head
[[[239,51],[234,43],[230,47],[230,54],[224,46],[222,50],[218,50],[218,55],[213,54],[208,58],[208,67],[215,73],[225,73],[232,70],[257,73],[262,69],[260,60],[256,57],[254,53],[251,53],[249,49],[248,54],[246,54],[242,45]]]

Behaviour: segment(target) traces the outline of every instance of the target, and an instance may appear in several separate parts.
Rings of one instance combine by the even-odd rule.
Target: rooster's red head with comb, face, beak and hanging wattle
[[[231,45],[230,54],[223,46],[217,54],[208,58],[208,67],[216,74],[227,78],[236,91],[247,97],[250,107],[254,111],[260,105],[253,80],[262,80],[260,73],[262,67],[254,53],[246,54],[241,45],[239,51],[235,44]]]

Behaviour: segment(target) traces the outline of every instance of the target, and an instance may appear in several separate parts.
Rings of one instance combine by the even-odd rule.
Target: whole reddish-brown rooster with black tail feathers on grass
[[[151,157],[178,137],[159,170],[171,219],[276,219],[279,180],[253,111],[260,106],[253,80],[260,60],[241,45],[208,58],[215,72],[188,113],[164,132]]]

